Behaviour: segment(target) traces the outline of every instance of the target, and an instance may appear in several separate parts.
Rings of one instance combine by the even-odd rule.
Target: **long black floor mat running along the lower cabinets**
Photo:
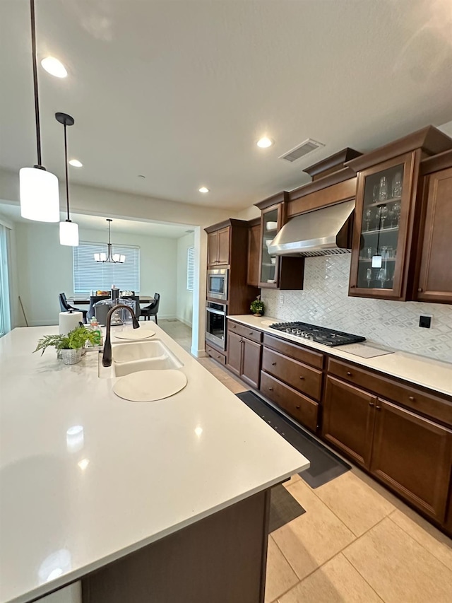
[[[261,397],[253,392],[242,392],[237,394],[237,397],[309,459],[311,467],[299,475],[311,488],[319,488],[351,469],[349,464],[321,445],[309,433],[297,428],[289,419],[266,404]]]

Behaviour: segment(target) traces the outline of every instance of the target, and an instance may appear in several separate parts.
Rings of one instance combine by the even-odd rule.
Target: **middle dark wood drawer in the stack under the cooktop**
[[[295,390],[320,400],[322,372],[268,348],[263,349],[262,369],[287,383]]]

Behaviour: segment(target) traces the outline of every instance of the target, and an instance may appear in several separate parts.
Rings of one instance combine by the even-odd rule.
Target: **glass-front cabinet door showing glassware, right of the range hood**
[[[350,295],[402,299],[414,154],[358,173]]]

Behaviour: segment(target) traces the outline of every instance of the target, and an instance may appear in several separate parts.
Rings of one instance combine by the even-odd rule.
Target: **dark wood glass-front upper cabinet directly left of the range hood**
[[[259,243],[260,288],[302,289],[304,258],[270,256],[268,245],[287,221],[289,193],[281,192],[256,206],[261,210],[261,240]]]

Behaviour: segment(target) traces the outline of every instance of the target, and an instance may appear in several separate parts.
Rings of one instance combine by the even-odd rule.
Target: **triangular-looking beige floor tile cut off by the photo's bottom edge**
[[[340,553],[278,599],[278,603],[311,602],[381,603],[381,599]]]

